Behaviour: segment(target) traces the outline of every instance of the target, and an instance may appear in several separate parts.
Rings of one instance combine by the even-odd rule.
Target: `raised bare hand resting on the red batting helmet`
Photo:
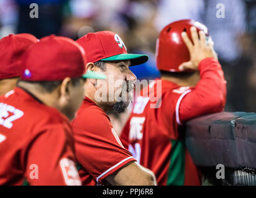
[[[183,62],[179,66],[180,71],[185,69],[198,69],[199,62],[205,58],[217,59],[217,54],[213,49],[213,41],[209,40],[208,43],[206,43],[206,36],[203,31],[199,32],[198,38],[198,32],[195,27],[191,27],[190,31],[193,43],[191,42],[190,38],[188,38],[186,32],[181,33],[181,37],[183,38],[183,41],[185,42],[186,46],[188,47],[188,51],[190,52],[190,61]]]

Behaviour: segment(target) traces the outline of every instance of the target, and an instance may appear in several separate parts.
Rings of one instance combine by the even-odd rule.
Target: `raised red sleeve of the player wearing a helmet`
[[[200,80],[196,87],[181,94],[176,103],[176,120],[182,124],[203,114],[224,110],[226,80],[221,65],[214,58],[199,63]]]

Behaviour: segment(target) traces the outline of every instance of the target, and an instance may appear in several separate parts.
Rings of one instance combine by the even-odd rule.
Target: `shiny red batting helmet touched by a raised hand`
[[[180,72],[178,66],[181,63],[190,61],[190,53],[186,47],[181,32],[188,33],[191,39],[190,27],[196,27],[198,32],[203,30],[206,37],[209,36],[208,28],[194,20],[178,20],[167,25],[160,33],[157,40],[156,58],[159,70]]]

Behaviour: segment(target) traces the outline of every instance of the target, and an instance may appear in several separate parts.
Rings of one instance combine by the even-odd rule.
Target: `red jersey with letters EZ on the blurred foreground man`
[[[0,185],[81,185],[68,119],[22,88],[0,97],[0,150]]]

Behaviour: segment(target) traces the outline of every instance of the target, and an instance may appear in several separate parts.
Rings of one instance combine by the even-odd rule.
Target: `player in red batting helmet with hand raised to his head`
[[[181,126],[224,110],[226,81],[208,36],[194,20],[163,28],[156,50],[161,79],[142,90],[122,131],[124,147],[155,173],[158,185],[201,184]]]

